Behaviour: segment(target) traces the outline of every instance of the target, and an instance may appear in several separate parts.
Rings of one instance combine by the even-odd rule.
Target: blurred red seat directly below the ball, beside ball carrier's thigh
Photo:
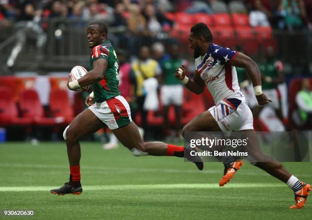
[[[50,111],[59,121],[69,124],[73,119],[73,109],[69,103],[66,90],[52,90],[50,92]]]

